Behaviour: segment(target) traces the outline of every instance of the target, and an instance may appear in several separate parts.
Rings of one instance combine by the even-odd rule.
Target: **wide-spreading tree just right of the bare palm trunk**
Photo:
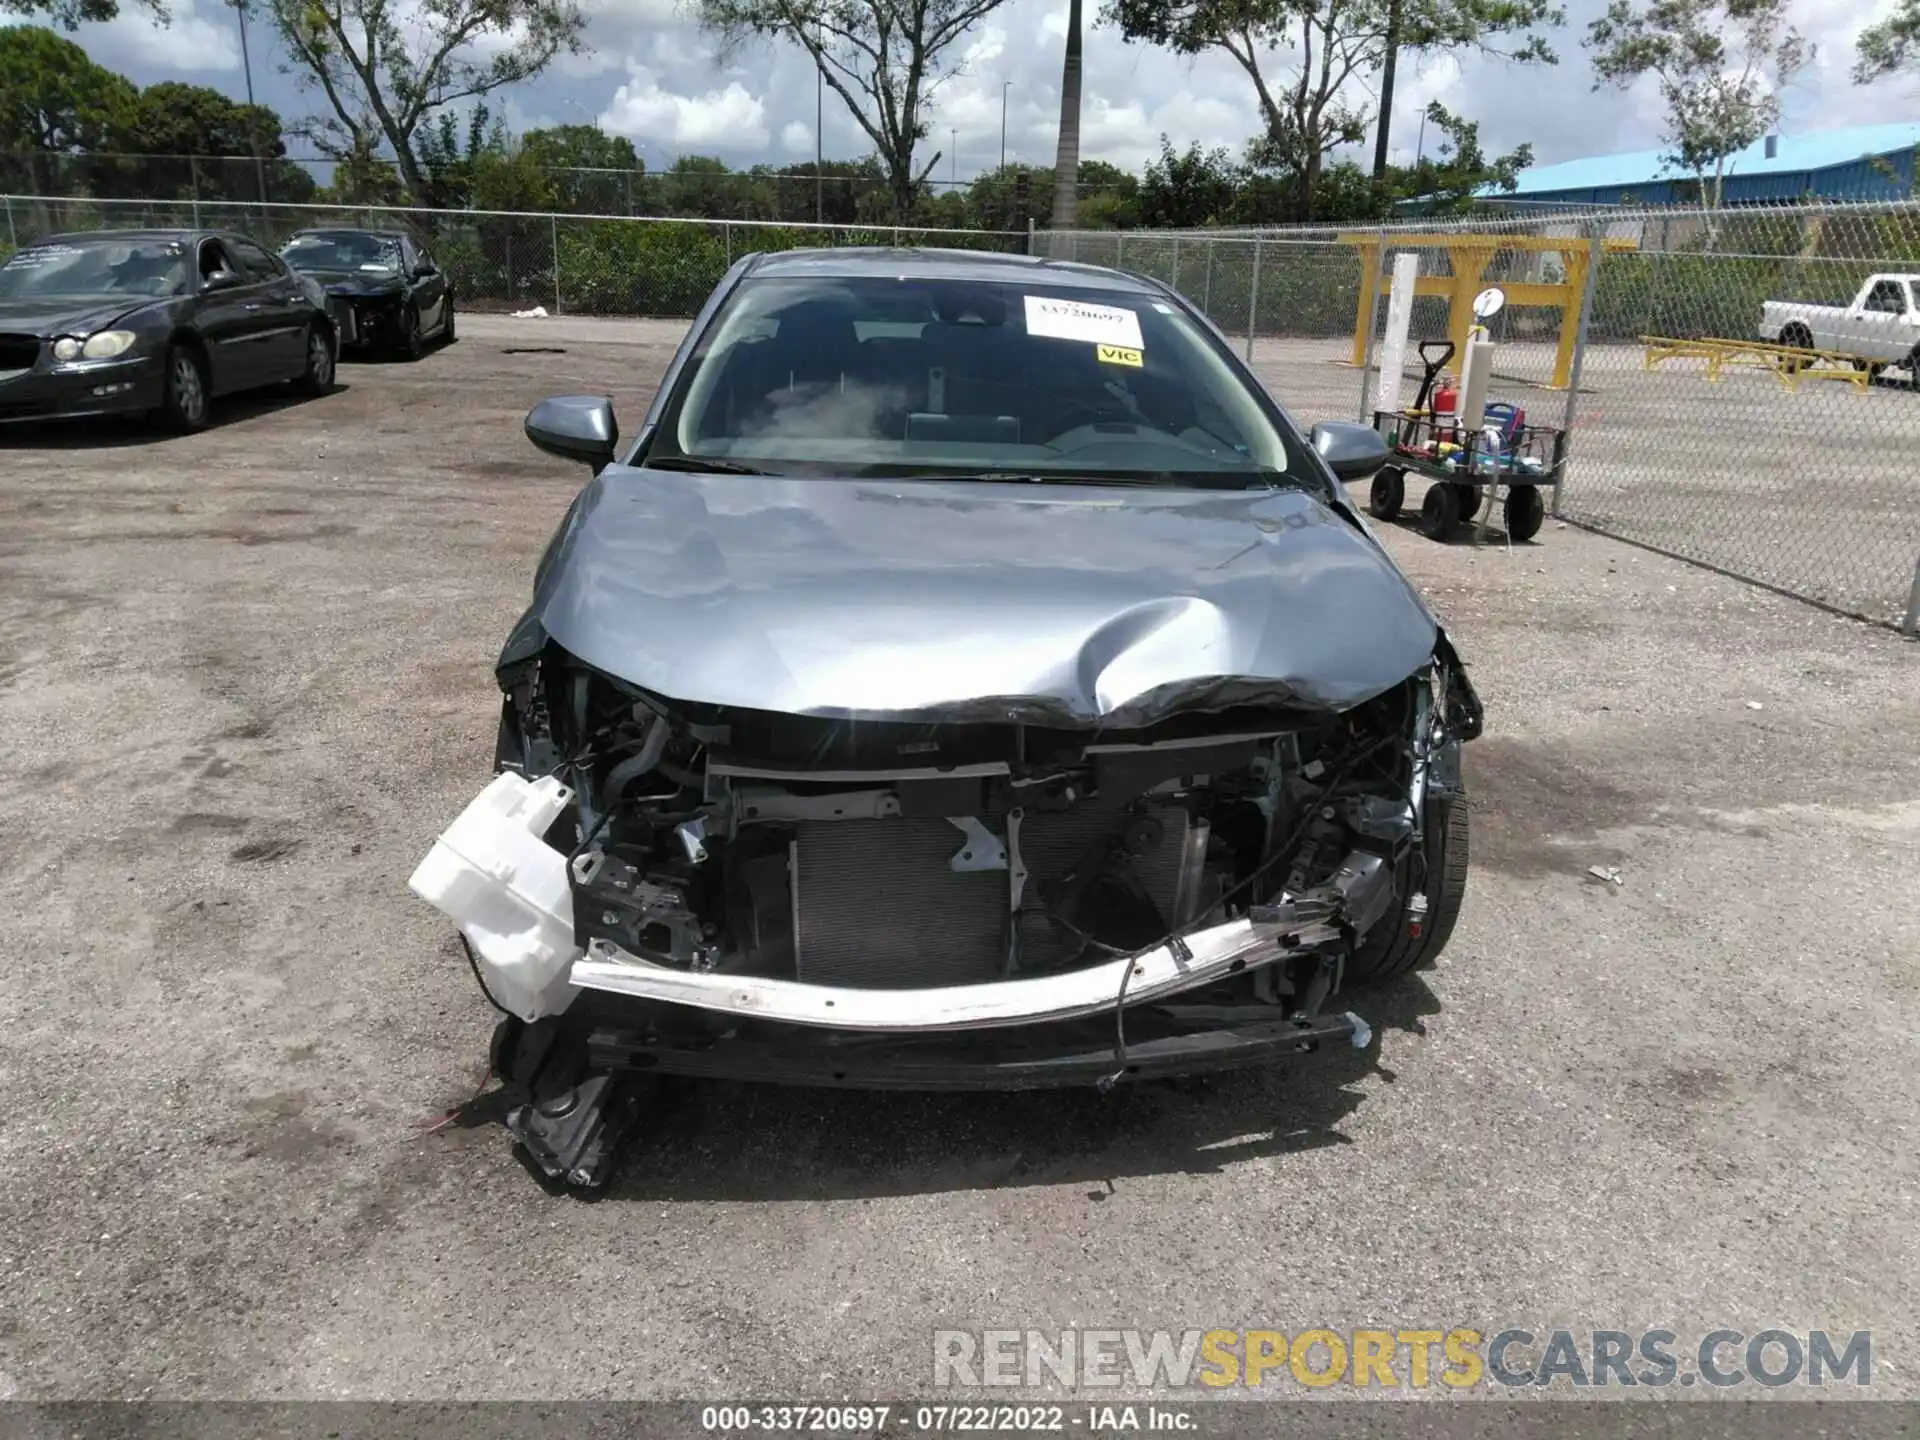
[[[1294,219],[1309,219],[1327,157],[1367,132],[1354,86],[1402,50],[1476,50],[1553,61],[1536,27],[1563,19],[1551,0],[1108,0],[1129,40],[1179,54],[1223,50],[1254,83],[1260,165],[1292,175]],[[1269,77],[1269,56],[1283,73]]]

